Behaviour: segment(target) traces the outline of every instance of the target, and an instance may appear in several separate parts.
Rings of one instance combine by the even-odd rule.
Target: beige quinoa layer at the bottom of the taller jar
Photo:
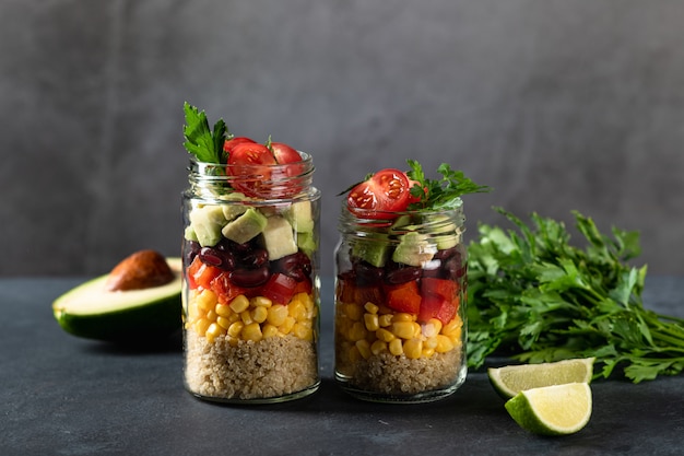
[[[186,385],[217,399],[264,399],[306,389],[318,382],[315,344],[294,336],[259,342],[227,337],[212,343],[186,331]]]

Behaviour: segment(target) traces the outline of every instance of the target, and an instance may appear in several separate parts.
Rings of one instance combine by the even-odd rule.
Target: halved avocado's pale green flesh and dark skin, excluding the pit
[[[67,332],[89,339],[140,341],[168,337],[181,326],[181,261],[167,258],[175,279],[164,285],[107,291],[108,274],[90,280],[52,303]]]

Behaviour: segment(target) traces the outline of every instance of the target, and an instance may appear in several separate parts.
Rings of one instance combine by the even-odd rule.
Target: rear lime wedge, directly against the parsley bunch
[[[487,370],[494,389],[505,399],[527,389],[565,383],[590,383],[595,358],[579,358],[554,363],[507,365]]]

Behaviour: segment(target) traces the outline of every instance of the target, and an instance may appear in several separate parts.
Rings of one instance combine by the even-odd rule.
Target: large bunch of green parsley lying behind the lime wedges
[[[562,222],[531,224],[497,209],[516,230],[481,224],[469,245],[468,363],[490,354],[521,362],[597,358],[595,377],[614,372],[634,383],[684,370],[684,319],[644,307],[646,266],[637,232],[612,236],[574,212],[586,246],[570,245]]]

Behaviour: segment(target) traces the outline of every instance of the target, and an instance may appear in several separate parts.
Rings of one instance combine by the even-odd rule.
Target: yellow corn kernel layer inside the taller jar
[[[227,337],[232,343],[258,342],[290,334],[312,341],[317,316],[318,307],[307,293],[295,294],[287,305],[274,304],[266,296],[248,299],[243,294],[224,305],[219,303],[214,292],[204,289],[188,293],[185,328],[204,336],[210,342],[217,337]]]

